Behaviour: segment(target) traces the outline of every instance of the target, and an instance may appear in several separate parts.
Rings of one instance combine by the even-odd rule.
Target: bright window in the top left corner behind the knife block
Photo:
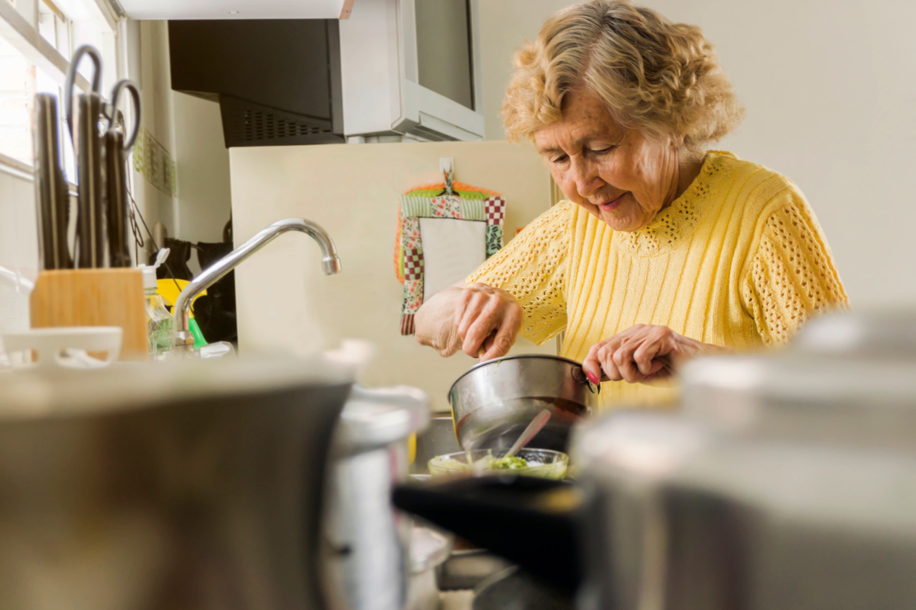
[[[76,48],[91,44],[102,53],[103,94],[111,91],[119,78],[117,38],[114,21],[104,15],[101,1],[0,0],[0,21],[5,21],[0,29],[0,163],[7,156],[32,164],[33,100],[36,92],[53,93],[58,97],[64,171],[75,182],[72,144],[63,116],[63,80],[60,74],[52,77],[35,64],[49,60],[60,65],[61,58],[69,61]],[[15,10],[9,10],[11,5]],[[15,41],[3,37],[10,29],[16,32]],[[32,44],[35,33],[48,45]],[[80,72],[86,78],[92,77],[92,70],[91,61],[81,63]]]

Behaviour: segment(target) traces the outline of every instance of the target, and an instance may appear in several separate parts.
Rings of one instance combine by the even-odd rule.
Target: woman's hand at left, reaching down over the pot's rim
[[[463,282],[436,293],[414,317],[417,340],[442,356],[459,349],[472,358],[505,356],[522,321],[521,305],[501,288]]]

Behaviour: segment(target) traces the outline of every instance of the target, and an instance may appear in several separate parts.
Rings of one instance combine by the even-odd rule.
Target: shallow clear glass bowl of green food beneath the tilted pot
[[[467,455],[471,454],[471,464]],[[436,455],[430,462],[431,476],[525,475],[561,479],[569,465],[569,455],[551,449],[520,449],[516,455],[501,459],[506,450],[474,449]],[[518,458],[522,458],[519,460]]]

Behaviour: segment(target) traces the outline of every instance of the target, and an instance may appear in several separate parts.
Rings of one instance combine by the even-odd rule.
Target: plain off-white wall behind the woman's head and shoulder
[[[571,3],[480,4],[488,138],[513,48]],[[916,301],[916,3],[850,0],[643,0],[703,27],[747,106],[716,144],[791,177],[821,220],[856,306]]]

